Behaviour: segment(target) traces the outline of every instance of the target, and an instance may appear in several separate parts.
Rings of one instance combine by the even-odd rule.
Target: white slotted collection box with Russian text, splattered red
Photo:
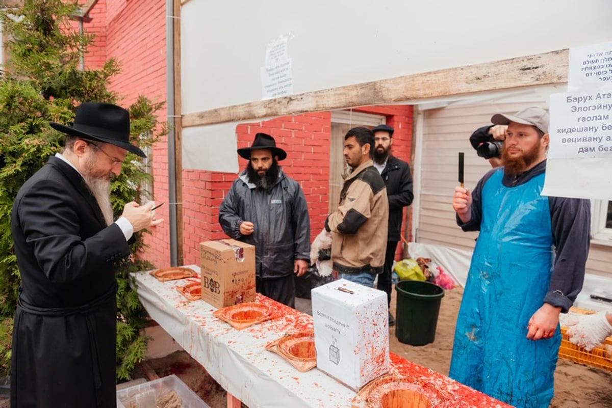
[[[311,293],[317,368],[356,392],[387,373],[387,294],[346,279]]]

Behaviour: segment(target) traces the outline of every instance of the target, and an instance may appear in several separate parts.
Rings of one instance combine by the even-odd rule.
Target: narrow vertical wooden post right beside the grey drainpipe
[[[181,0],[174,0],[174,157],[176,171],[176,260],[183,264],[183,156],[181,120]]]

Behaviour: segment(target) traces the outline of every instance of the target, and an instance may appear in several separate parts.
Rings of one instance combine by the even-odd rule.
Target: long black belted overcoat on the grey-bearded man
[[[129,255],[81,175],[51,157],[23,184],[11,231],[21,274],[11,407],[116,407],[113,263]]]

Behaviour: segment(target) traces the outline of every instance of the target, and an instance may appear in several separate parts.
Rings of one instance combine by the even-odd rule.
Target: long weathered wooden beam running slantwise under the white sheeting
[[[567,82],[569,51],[447,68],[186,114],[182,126],[202,126],[347,107],[464,95]]]

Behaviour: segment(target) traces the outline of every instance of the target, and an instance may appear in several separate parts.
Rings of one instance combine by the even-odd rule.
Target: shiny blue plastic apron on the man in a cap
[[[513,188],[503,169],[482,189],[482,221],[457,318],[449,376],[515,407],[548,407],[561,342],[528,340],[553,263],[544,174]]]

